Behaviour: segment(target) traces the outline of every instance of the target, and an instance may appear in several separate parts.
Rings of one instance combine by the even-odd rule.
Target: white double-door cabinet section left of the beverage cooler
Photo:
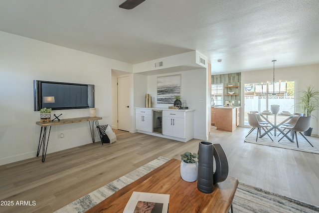
[[[152,132],[152,110],[136,109],[136,129]]]

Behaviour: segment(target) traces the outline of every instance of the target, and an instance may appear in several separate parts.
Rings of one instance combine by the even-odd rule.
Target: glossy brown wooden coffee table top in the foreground
[[[227,177],[214,186],[211,194],[197,189],[197,181],[189,183],[180,177],[180,162],[172,159],[120,189],[87,213],[121,213],[132,193],[169,194],[168,213],[228,213],[238,186],[238,180]]]

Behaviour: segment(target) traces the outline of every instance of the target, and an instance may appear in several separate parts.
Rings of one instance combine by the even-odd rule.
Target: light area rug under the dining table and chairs
[[[312,147],[300,134],[298,134],[299,148],[297,147],[296,142],[292,143],[286,137],[284,137],[280,142],[278,142],[278,140],[281,139],[281,137],[283,136],[282,134],[280,134],[279,136],[270,135],[270,137],[274,140],[274,142],[272,142],[267,135],[265,135],[262,138],[258,138],[256,142],[256,134],[257,134],[257,131],[252,132],[247,138],[244,139],[244,142],[319,154],[319,150],[316,147]],[[312,143],[311,137],[308,137],[308,136],[306,137],[308,141]]]

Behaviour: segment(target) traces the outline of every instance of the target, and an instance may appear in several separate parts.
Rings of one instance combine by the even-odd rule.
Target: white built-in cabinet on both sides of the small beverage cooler
[[[153,132],[153,110],[162,111],[162,134]],[[187,142],[194,137],[194,111],[136,108],[136,129],[141,133]]]

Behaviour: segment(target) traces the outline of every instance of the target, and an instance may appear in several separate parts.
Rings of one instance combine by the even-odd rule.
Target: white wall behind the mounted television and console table
[[[111,70],[133,72],[131,64],[1,31],[0,41],[0,165],[36,156],[40,127],[35,124],[39,113],[33,111],[33,80],[94,84],[100,124],[111,124]],[[89,110],[54,113],[64,119],[88,116]],[[47,153],[88,143],[87,122],[53,126]]]

